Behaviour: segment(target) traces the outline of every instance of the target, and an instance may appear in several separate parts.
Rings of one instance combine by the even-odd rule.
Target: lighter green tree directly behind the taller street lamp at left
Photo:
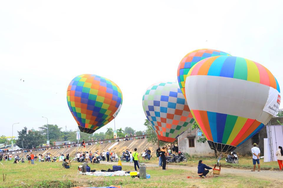
[[[58,127],[58,125],[48,125],[48,137],[50,142],[62,141],[63,132],[61,129],[62,128]],[[47,125],[39,127],[39,132],[44,136],[44,139],[47,140]]]

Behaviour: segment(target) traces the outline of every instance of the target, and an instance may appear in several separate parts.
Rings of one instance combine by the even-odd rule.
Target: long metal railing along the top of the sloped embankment
[[[141,137],[146,137],[146,136],[148,136],[148,135],[137,135],[137,136],[129,136],[129,137],[121,137],[121,138],[110,138],[110,139],[104,139],[104,140],[94,140],[94,141],[88,141],[88,142],[85,142],[85,144],[87,145],[88,143],[95,143],[95,142],[97,142],[98,144],[101,144],[100,142],[105,142],[105,141],[112,141],[112,140],[122,140],[122,141],[126,141],[125,139],[129,139],[129,138],[141,138]],[[118,142],[118,141],[117,141]],[[121,141],[120,141],[121,142]],[[20,149],[20,150],[13,150],[13,151],[2,151],[2,152],[0,152],[0,154],[1,153],[3,153],[4,155],[5,154],[10,154],[10,153],[14,153],[14,152],[24,152],[24,151],[41,151],[42,149],[43,150],[47,150],[47,149],[49,149],[49,148],[51,148],[51,149],[60,149],[60,148],[58,148],[58,147],[62,147],[62,146],[72,146],[73,145],[73,147],[77,147],[77,145],[79,144],[81,144],[82,142],[79,142],[79,143],[72,143],[72,144],[62,144],[62,145],[56,145],[56,146],[46,146],[46,147],[40,147],[40,148],[31,148],[31,149]]]

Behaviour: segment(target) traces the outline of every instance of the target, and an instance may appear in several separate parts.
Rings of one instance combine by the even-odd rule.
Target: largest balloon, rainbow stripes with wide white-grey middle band
[[[280,88],[259,63],[215,56],[195,64],[185,92],[192,116],[211,149],[231,152],[277,115]]]

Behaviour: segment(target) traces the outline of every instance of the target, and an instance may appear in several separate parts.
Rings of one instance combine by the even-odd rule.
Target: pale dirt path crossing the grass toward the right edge
[[[101,162],[101,164],[109,164],[107,162]],[[134,166],[134,164],[122,162],[122,165],[125,166]],[[158,167],[158,164],[146,164],[147,167]],[[191,172],[196,172],[197,167],[190,167],[190,166],[181,166],[181,165],[167,165],[168,168],[171,169],[184,169]],[[211,171],[211,170],[210,170]],[[245,169],[235,169],[235,168],[221,168],[221,174],[229,174],[235,176],[244,176],[244,177],[254,177],[257,179],[266,179],[269,181],[280,181],[283,182],[283,172],[275,171],[275,170],[262,170],[261,172],[251,172],[251,170]],[[197,176],[196,176],[197,177]]]

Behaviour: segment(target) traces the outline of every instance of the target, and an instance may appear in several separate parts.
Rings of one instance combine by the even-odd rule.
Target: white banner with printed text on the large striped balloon
[[[280,101],[280,93],[276,89],[269,87],[269,95],[263,111],[276,116],[279,110]]]

